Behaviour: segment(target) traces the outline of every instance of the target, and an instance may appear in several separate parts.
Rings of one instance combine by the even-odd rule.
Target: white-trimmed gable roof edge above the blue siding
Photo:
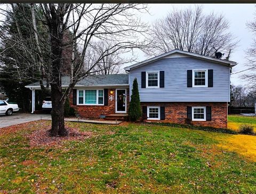
[[[206,60],[206,61],[211,61],[214,63],[218,63],[218,64],[223,64],[226,66],[230,66],[233,67],[235,66],[237,63],[234,61],[228,61],[228,60],[223,60],[223,59],[217,59],[217,58],[212,58],[210,56],[204,56],[201,54],[196,54],[196,53],[191,53],[191,52],[187,52],[187,51],[181,51],[178,49],[175,49],[173,51],[155,56],[153,58],[147,59],[145,61],[139,62],[139,63],[135,63],[131,66],[125,67],[124,69],[126,71],[130,71],[131,69],[135,69],[141,66],[144,66],[148,63],[152,63],[154,61],[160,60],[160,59],[166,59],[166,58],[181,58],[181,57],[193,57],[193,58],[197,58],[197,59],[201,59],[201,60]]]

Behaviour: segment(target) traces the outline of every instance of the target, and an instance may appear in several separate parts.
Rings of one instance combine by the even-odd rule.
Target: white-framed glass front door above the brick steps
[[[126,113],[126,89],[116,89],[116,113]]]

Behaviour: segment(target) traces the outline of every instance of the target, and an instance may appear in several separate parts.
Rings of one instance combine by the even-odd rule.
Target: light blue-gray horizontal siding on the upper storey
[[[187,70],[213,69],[213,87],[187,87]],[[141,88],[141,71],[164,71],[164,88]],[[130,71],[137,77],[141,102],[229,102],[230,68],[195,58],[161,59]]]

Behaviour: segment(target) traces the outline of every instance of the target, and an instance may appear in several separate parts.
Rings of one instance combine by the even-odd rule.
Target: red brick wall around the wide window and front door
[[[92,89],[93,90],[93,89]],[[113,94],[110,93],[110,91],[113,91]],[[129,107],[129,88],[126,88],[126,111],[128,111]],[[100,115],[110,115],[115,114],[115,96],[116,96],[116,88],[108,88],[108,96],[113,95],[114,100],[108,99],[108,105],[107,106],[93,106],[93,105],[73,105],[73,94],[69,96],[69,102],[70,106],[73,107],[82,118],[99,118]]]

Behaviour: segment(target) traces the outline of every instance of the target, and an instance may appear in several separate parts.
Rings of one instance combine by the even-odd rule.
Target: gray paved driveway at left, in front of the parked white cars
[[[0,128],[9,127],[34,120],[51,119],[51,115],[46,114],[13,114],[11,116],[0,115]]]

